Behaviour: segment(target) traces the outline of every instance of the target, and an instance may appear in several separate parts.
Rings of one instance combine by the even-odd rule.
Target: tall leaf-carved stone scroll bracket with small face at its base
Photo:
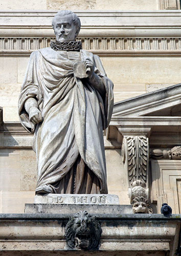
[[[149,127],[141,129],[119,128],[123,135],[122,159],[127,173],[129,198],[133,213],[152,213],[149,205],[148,163]]]

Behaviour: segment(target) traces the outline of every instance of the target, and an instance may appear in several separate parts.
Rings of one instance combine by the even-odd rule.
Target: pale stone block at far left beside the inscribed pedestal
[[[34,191],[2,191],[2,213],[24,213],[25,203],[33,203],[34,196]]]

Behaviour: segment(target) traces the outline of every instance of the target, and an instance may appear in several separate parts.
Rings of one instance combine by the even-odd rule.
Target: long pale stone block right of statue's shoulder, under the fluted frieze
[[[101,60],[114,83],[180,82],[181,60],[177,57],[101,57]]]

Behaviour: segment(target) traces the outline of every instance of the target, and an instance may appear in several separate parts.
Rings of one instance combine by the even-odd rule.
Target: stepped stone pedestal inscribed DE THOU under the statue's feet
[[[132,214],[131,205],[120,205],[119,197],[108,194],[47,194],[35,196],[34,204],[25,204],[26,214]]]

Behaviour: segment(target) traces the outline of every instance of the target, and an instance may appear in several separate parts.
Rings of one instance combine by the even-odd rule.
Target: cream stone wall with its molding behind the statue
[[[129,11],[117,11],[116,1],[104,1],[104,5],[98,0],[75,1],[74,5],[82,10],[77,11],[82,23],[79,39],[84,49],[101,57],[107,76],[115,83],[115,102],[180,82],[181,18],[180,11],[175,11],[179,1],[119,1],[119,8]],[[103,11],[108,5],[115,11]],[[1,10],[6,10],[0,11],[0,92],[5,121],[0,133],[0,200],[4,213],[23,212],[25,202],[33,202],[36,160],[32,136],[18,124],[17,101],[30,53],[48,47],[54,39],[51,21],[59,6],[70,8],[63,1],[0,1]],[[34,11],[23,11],[27,9]],[[105,149],[109,193],[119,195],[121,204],[129,204],[121,143],[105,137]]]

